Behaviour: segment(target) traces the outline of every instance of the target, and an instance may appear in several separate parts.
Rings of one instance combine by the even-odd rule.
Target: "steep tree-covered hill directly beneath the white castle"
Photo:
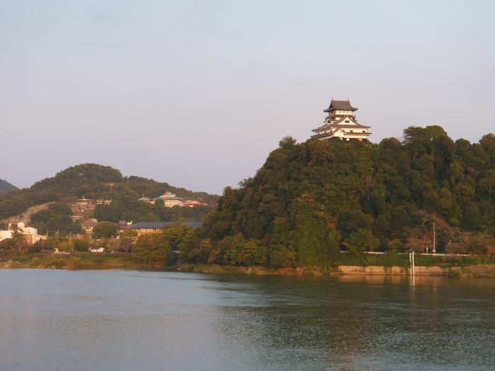
[[[487,252],[495,234],[495,136],[453,141],[409,127],[378,144],[290,137],[255,177],[227,187],[190,261],[320,265],[339,250]]]

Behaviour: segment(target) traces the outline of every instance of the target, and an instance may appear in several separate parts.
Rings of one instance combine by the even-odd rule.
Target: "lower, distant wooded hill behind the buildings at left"
[[[160,205],[138,201],[142,194],[157,197],[164,192],[177,196],[196,197],[209,206],[196,208],[164,208]],[[119,170],[110,166],[82,164],[69,167],[54,177],[43,179],[28,189],[18,189],[0,195],[0,219],[23,213],[30,206],[58,202],[35,214],[33,226],[45,232],[47,228],[62,233],[76,232],[79,225],[71,223],[67,201],[79,199],[112,199],[110,205],[98,205],[94,216],[98,220],[202,220],[214,207],[217,196],[205,192],[191,192],[143,177],[123,177]],[[50,227],[51,225],[51,227]]]

